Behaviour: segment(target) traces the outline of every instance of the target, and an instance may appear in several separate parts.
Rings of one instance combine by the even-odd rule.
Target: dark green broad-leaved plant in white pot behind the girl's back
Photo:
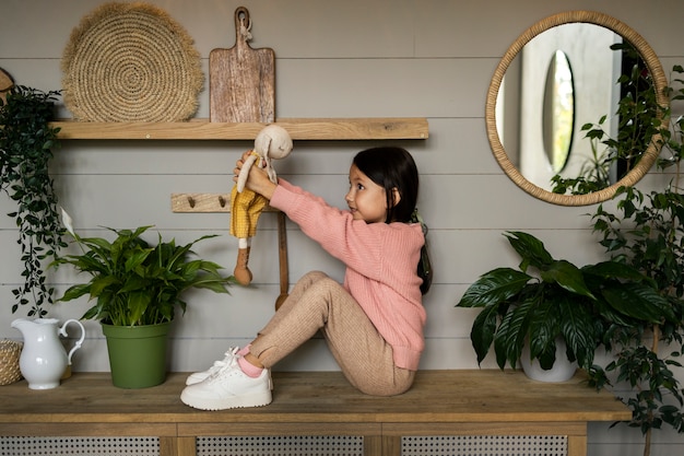
[[[566,381],[575,369],[558,374],[552,371],[558,362],[591,370],[597,348],[610,344],[616,328],[630,327],[633,319],[657,321],[668,308],[649,279],[627,265],[578,268],[554,259],[531,234],[505,236],[521,258],[519,269],[485,272],[457,304],[482,308],[470,336],[479,364],[494,348],[502,370],[521,364],[535,379]]]

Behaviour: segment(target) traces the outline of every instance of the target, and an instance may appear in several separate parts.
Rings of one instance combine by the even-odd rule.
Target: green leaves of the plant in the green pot
[[[114,326],[143,326],[172,321],[176,307],[185,313],[182,295],[189,289],[207,289],[229,293],[233,276],[222,276],[221,266],[192,258],[192,246],[215,235],[202,236],[189,244],[164,242],[156,245],[141,236],[151,226],[111,231],[114,241],[103,237],[81,237],[64,214],[64,224],[81,247],[80,255],[59,257],[54,265],[71,265],[91,276],[86,283],[70,287],[59,301],[72,301],[89,295],[95,304],[82,318],[96,319]]]

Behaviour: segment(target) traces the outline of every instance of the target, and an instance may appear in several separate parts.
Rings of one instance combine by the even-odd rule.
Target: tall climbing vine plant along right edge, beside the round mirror
[[[682,73],[683,67],[673,67],[670,85],[680,89],[665,89],[672,104],[663,107],[664,118],[670,118],[671,106],[684,101]],[[671,173],[671,180],[662,190],[650,192],[623,187],[615,196],[614,209],[600,204],[592,218],[593,230],[601,234],[601,245],[611,257],[652,279],[672,311],[656,325],[634,320],[630,327],[612,326],[606,337],[615,358],[604,369],[594,366],[591,372],[598,387],[610,384],[608,373],[612,372],[617,382],[626,382],[634,390],[621,399],[632,409],[629,425],[644,433],[645,456],[650,455],[653,430],[664,424],[684,433],[684,389],[675,375],[675,370],[682,372],[679,359],[684,354],[684,195],[680,182],[684,117],[672,118],[670,125],[659,125],[658,118],[650,119],[662,137],[657,167]],[[601,138],[600,127],[592,131]],[[629,148],[623,139],[620,145]],[[612,140],[603,143],[614,147]]]

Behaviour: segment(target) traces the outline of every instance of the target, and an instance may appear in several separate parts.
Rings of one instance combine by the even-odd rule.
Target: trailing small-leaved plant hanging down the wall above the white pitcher
[[[16,221],[24,265],[24,283],[12,290],[12,313],[31,305],[27,314],[35,317],[46,315],[44,306],[52,303],[46,260],[56,259],[59,248],[66,247],[48,169],[52,150],[59,148],[59,128],[48,124],[58,95],[15,85],[7,102],[0,101],[0,189],[16,202],[16,211],[8,215]]]

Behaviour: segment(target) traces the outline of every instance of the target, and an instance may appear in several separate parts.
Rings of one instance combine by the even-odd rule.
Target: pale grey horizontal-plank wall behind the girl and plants
[[[0,68],[17,83],[60,89],[59,62],[71,30],[98,0],[3,0],[0,7]],[[423,369],[476,366],[469,332],[473,313],[453,304],[481,272],[516,258],[505,230],[539,235],[557,256],[578,264],[602,252],[587,213],[535,200],[518,189],[494,161],[486,140],[484,103],[490,79],[509,44],[529,25],[556,12],[590,9],[614,15],[639,32],[669,70],[684,59],[680,0],[345,0],[219,1],[153,0],[194,38],[208,69],[212,48],[234,44],[233,12],[246,5],[253,21],[251,46],[276,54],[278,117],[427,117],[426,141],[398,141],[414,153],[422,174],[420,208],[431,226],[435,284],[425,300],[427,348]],[[209,83],[205,83],[205,87]],[[209,116],[207,89],[198,117]],[[61,109],[61,114],[68,113]],[[375,141],[297,141],[279,174],[333,204],[343,206],[352,155]],[[165,236],[188,242],[201,234],[223,236],[198,245],[198,253],[232,269],[236,246],[225,214],[176,214],[169,196],[178,191],[227,191],[229,173],[249,142],[71,141],[54,162],[62,206],[82,234],[105,234],[98,226],[155,224]],[[651,174],[645,185],[662,179]],[[12,211],[0,196],[0,213]],[[226,347],[249,341],[272,315],[278,295],[274,218],[264,214],[250,266],[255,285],[232,296],[193,293],[186,316],[174,329],[172,369],[203,369]],[[17,338],[10,321],[11,289],[20,281],[16,230],[0,218],[0,337]],[[291,281],[311,269],[342,277],[342,267],[303,236],[288,231]],[[50,278],[58,290],[76,278],[60,270]],[[59,292],[58,292],[59,293]],[[78,317],[86,303],[50,309],[55,317]],[[21,312],[21,311],[20,311]],[[87,340],[74,359],[75,371],[106,371],[98,325],[86,324]],[[487,361],[485,366],[493,367]],[[335,370],[321,340],[283,361],[280,370]],[[590,428],[590,454],[638,455],[640,434],[626,428]],[[680,454],[684,437],[656,436],[653,455]]]

